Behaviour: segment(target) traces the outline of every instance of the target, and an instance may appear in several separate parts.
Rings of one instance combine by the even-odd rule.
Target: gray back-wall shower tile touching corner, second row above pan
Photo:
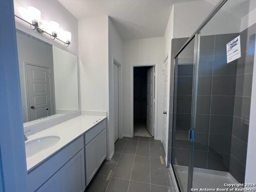
[[[218,153],[230,153],[231,135],[210,134],[209,150]]]

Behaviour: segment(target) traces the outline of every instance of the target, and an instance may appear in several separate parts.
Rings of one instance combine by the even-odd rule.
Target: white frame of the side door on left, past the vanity
[[[122,65],[120,62],[113,56],[113,83],[114,83],[114,64],[118,66],[118,138],[123,137],[122,129]],[[114,96],[114,95],[113,95]],[[115,136],[115,131],[113,132]]]

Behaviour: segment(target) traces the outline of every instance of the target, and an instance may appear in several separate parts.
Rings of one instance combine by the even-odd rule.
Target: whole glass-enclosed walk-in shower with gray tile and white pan
[[[168,161],[182,192],[244,183],[255,8],[255,0],[222,0],[189,41],[172,40],[182,49],[172,53]]]

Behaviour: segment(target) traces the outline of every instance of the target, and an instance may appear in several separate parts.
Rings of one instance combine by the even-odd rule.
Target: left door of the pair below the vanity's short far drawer
[[[98,169],[97,136],[85,146],[86,185],[92,180]]]

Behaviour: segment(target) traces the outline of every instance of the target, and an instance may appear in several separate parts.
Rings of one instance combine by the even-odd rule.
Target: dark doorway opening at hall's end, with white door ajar
[[[154,136],[155,66],[134,67],[133,134]]]

